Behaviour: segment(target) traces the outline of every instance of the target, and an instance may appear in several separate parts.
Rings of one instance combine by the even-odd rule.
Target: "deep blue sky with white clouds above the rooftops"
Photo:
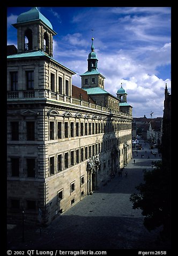
[[[17,30],[11,25],[31,7],[8,8],[8,45],[17,47]],[[38,7],[50,20],[54,59],[70,68],[72,84],[81,87],[94,37],[98,71],[106,77],[105,89],[116,96],[121,83],[133,117],[162,117],[164,90],[171,93],[170,7]]]

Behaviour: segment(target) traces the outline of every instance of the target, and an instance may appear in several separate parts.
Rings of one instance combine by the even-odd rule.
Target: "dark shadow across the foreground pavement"
[[[142,217],[63,215],[55,225],[43,229],[41,237],[34,233],[31,241],[27,237],[24,243],[19,243],[17,237],[14,241],[19,243],[16,249],[31,250],[168,250],[169,245],[157,239],[158,231],[147,231]],[[8,248],[13,249],[13,244],[9,243]]]

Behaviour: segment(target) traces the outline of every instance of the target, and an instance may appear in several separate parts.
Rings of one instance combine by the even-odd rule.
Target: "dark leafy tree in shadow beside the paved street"
[[[145,183],[140,183],[130,201],[133,209],[142,209],[144,226],[151,231],[162,226],[160,237],[170,239],[170,172],[162,168],[161,161],[154,163],[155,168],[144,173]]]

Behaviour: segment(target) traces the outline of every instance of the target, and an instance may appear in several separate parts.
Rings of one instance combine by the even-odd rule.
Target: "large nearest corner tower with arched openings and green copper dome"
[[[17,29],[18,53],[40,50],[53,57],[53,35],[57,33],[38,8],[21,13],[12,25]]]

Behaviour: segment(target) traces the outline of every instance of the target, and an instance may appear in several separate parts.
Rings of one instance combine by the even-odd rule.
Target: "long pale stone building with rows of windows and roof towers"
[[[81,88],[72,85],[75,72],[53,58],[56,32],[37,8],[21,13],[13,26],[18,48],[7,56],[8,221],[21,220],[24,211],[26,223],[49,224],[127,165],[132,115],[105,91],[97,68],[81,75]],[[88,65],[96,63],[89,58]]]

